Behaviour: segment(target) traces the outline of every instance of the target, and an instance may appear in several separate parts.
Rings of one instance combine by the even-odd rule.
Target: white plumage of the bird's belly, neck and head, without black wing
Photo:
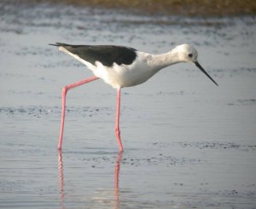
[[[84,63],[96,77],[102,78],[102,80],[115,89],[142,84],[155,73],[159,72],[160,69],[177,62],[186,61],[182,54],[184,50],[186,51],[186,55],[187,53],[194,53],[195,59],[197,58],[196,50],[189,46],[189,44],[183,44],[161,55],[136,51],[136,60],[131,65],[113,63],[112,67],[106,67],[100,61],[96,61],[95,65],[92,65],[90,62],[84,61],[78,55],[74,55],[63,47],[60,47],[60,50]]]

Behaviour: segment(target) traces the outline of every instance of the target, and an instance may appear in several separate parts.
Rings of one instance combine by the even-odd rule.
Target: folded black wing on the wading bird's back
[[[136,49],[115,45],[70,45],[63,43],[50,44],[61,46],[74,55],[78,55],[84,61],[95,65],[96,61],[102,65],[112,67],[113,63],[118,65],[131,64],[137,57]]]

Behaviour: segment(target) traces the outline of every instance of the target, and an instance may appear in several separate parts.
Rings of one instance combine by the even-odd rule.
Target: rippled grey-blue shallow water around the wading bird
[[[256,208],[256,26],[252,17],[127,15],[0,3],[1,208]],[[72,90],[62,153],[61,87],[90,76],[49,43],[125,44],[161,53],[194,44],[195,66],[122,90]]]

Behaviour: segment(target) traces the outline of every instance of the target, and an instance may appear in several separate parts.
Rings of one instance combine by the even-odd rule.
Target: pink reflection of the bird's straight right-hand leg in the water
[[[122,156],[123,156],[123,151],[120,151],[114,165],[115,209],[119,209],[119,171],[120,171],[120,162],[122,160]]]

